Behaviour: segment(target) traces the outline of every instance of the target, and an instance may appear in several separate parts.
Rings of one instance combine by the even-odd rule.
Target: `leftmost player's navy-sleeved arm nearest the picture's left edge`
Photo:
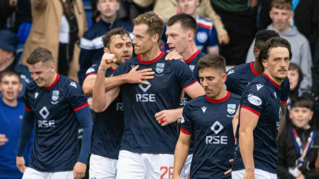
[[[24,116],[23,116],[23,120],[21,124],[21,129],[20,129],[18,150],[16,154],[16,167],[21,173],[23,173],[25,170],[23,153],[24,153],[25,146],[29,142],[32,135],[34,118],[35,118],[34,112],[31,109],[25,107],[25,112],[24,112]]]

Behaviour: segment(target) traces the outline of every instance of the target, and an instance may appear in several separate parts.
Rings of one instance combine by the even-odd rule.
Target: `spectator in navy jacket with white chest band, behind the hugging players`
[[[98,0],[97,9],[100,11],[101,20],[94,24],[80,41],[80,70],[78,73],[80,84],[84,80],[86,70],[93,64],[100,64],[104,54],[102,37],[112,28],[124,27],[129,32],[133,31],[130,23],[116,19],[117,11],[120,9],[118,0]],[[133,38],[132,33],[131,37]]]

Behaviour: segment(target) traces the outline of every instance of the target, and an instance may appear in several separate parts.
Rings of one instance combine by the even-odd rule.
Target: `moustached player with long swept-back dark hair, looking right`
[[[241,99],[232,179],[277,179],[279,87],[287,78],[291,57],[290,43],[280,37],[268,39],[260,51],[264,73],[250,82]]]

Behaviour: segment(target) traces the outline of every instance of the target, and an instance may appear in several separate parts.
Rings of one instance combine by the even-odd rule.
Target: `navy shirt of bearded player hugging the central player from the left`
[[[91,66],[86,71],[86,77],[96,75],[98,69],[99,65]],[[113,68],[107,69],[105,76],[112,76],[113,71]],[[91,154],[118,160],[124,132],[121,93],[105,111],[96,113],[93,129]]]

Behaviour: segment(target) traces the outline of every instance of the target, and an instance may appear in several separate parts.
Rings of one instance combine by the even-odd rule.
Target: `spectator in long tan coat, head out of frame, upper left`
[[[25,42],[21,63],[37,47],[52,52],[57,71],[77,79],[78,41],[87,30],[82,0],[31,0],[32,27]]]

